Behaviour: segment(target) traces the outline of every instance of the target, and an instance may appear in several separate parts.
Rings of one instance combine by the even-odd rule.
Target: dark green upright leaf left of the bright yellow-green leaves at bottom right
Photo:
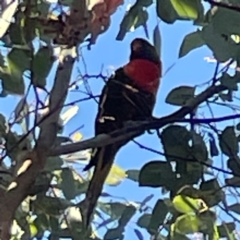
[[[148,231],[150,234],[158,233],[159,226],[164,223],[166,215],[168,213],[168,207],[165,205],[164,201],[159,199],[155,204],[148,226]]]

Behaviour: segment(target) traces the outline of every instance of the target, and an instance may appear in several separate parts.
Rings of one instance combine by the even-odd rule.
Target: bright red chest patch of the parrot
[[[148,60],[136,59],[124,66],[124,72],[138,87],[154,95],[157,93],[161,77],[160,63],[155,64]]]

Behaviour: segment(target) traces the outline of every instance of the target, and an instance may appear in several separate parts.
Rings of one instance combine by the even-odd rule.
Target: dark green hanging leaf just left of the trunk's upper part
[[[42,47],[33,58],[33,84],[36,87],[43,88],[46,85],[46,78],[54,62],[52,49]]]

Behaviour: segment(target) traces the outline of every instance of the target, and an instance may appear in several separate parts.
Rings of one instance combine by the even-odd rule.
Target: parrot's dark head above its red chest
[[[130,61],[144,59],[159,64],[160,57],[156,48],[143,38],[135,38],[131,43]]]

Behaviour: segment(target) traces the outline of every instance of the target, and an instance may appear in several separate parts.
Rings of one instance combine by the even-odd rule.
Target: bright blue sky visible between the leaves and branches
[[[149,11],[149,20],[147,22],[148,32],[150,35],[150,41],[152,41],[153,29],[157,24],[157,17],[155,13],[155,6],[151,6]],[[112,24],[107,32],[100,35],[97,39],[97,43],[92,46],[91,51],[83,48],[82,54],[87,65],[89,75],[95,75],[100,73],[103,66],[103,73],[106,74],[106,70],[111,66],[118,68],[124,65],[129,58],[130,43],[136,37],[146,37],[142,27],[138,28],[134,32],[129,32],[123,41],[116,41],[115,38],[119,31],[119,23],[123,18],[126,11],[126,4],[119,7],[118,11],[112,16]],[[173,25],[167,25],[163,22],[159,24],[161,38],[162,38],[162,62],[163,73],[172,65],[174,67],[164,76],[161,80],[161,86],[158,93],[157,104],[154,110],[154,115],[157,117],[165,116],[172,113],[177,108],[165,103],[165,98],[171,89],[181,85],[197,85],[206,82],[213,76],[215,65],[210,64],[204,60],[206,56],[212,56],[211,51],[207,47],[194,50],[186,57],[178,59],[178,52],[184,36],[192,31],[196,30],[191,22],[182,21],[176,22]],[[76,64],[77,67],[83,69],[81,60]],[[73,73],[73,80],[77,77],[77,71]],[[84,72],[83,72],[84,73]],[[51,79],[51,76],[50,76]],[[50,80],[51,82],[51,80]],[[94,95],[98,95],[101,92],[103,81],[99,79],[90,79],[89,84],[91,86]],[[81,89],[84,86],[81,85]],[[200,89],[200,90],[203,90]],[[68,101],[73,101],[79,98],[85,97],[80,92],[70,92]],[[9,114],[19,101],[19,97],[9,96],[1,99],[1,113]],[[97,112],[97,104],[94,101],[83,102],[79,104],[79,114],[75,116],[64,129],[64,134],[68,135],[77,127],[84,125],[81,129],[81,133],[84,138],[91,138],[94,134],[94,118]],[[203,113],[204,116],[210,116],[208,111],[200,110],[199,113]],[[223,116],[231,111],[222,108],[214,109],[215,116]],[[220,124],[219,126],[224,126]],[[161,144],[156,135],[145,134],[137,138],[143,145],[161,151]],[[116,157],[116,163],[122,168],[139,169],[145,163],[150,160],[162,160],[163,156],[153,154],[146,150],[140,149],[133,142],[123,147]],[[105,189],[114,196],[126,197],[130,201],[141,201],[147,195],[154,193],[155,197],[151,200],[150,204],[154,206],[158,198],[161,197],[160,189],[151,188],[139,188],[136,183],[130,180],[125,180],[118,187],[106,187]],[[118,201],[118,199],[114,199]],[[127,227],[126,234],[128,239],[137,239],[133,232],[135,227],[134,218]],[[144,230],[141,230],[144,232]],[[146,235],[147,236],[147,235]]]

